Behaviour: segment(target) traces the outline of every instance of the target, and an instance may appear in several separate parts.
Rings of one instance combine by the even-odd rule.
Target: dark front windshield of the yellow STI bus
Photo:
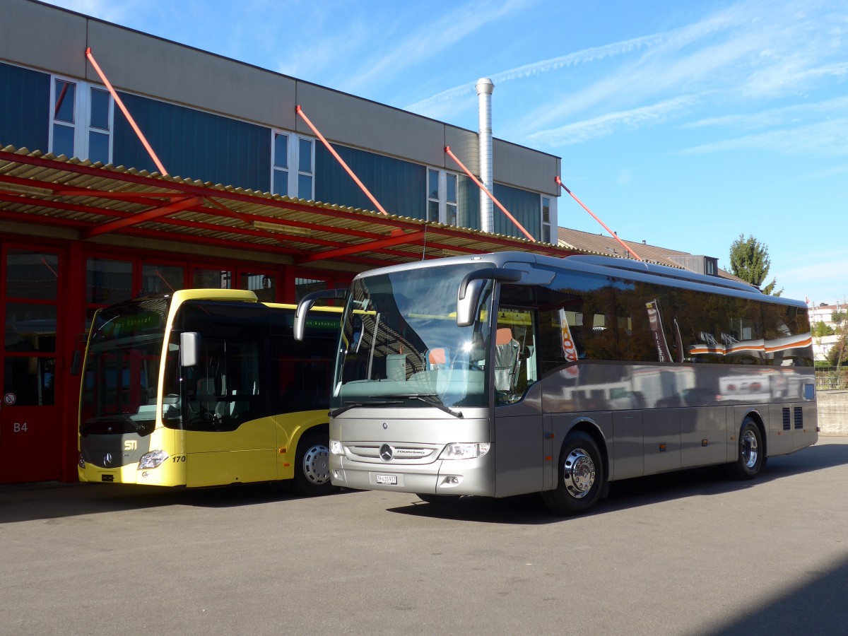
[[[86,355],[81,430],[98,425],[153,431],[168,298],[98,311]]]

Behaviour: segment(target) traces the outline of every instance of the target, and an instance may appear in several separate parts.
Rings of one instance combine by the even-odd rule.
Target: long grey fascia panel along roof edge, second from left
[[[293,129],[292,78],[97,20],[88,41],[115,88]],[[100,81],[90,64],[86,79]]]

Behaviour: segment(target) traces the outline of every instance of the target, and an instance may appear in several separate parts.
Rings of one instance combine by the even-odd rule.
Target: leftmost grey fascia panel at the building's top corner
[[[86,21],[84,16],[29,0],[3,0],[0,59],[82,77],[86,68]]]

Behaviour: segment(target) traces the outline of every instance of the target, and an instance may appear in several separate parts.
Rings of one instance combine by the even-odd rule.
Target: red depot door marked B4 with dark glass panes
[[[57,384],[59,255],[3,248],[0,316],[0,483],[61,477]]]

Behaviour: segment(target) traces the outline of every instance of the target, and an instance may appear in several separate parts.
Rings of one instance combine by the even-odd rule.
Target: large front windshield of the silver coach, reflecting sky
[[[332,409],[357,404],[488,404],[491,283],[477,320],[456,325],[456,293],[479,265],[444,265],[354,280],[343,317]]]

